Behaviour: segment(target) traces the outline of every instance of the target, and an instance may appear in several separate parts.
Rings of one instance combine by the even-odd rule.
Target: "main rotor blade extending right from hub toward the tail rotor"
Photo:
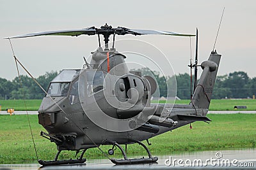
[[[131,31],[131,34],[137,35],[145,35],[145,34],[163,34],[163,35],[170,35],[170,36],[195,36],[193,34],[179,34],[176,32],[169,32],[169,31],[154,31],[154,30],[147,30],[147,29],[127,29],[127,31]],[[133,32],[133,33],[132,33]]]

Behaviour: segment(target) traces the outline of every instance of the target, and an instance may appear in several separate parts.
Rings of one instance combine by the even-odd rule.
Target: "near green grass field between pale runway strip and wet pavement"
[[[193,152],[202,150],[234,150],[237,148],[256,147],[256,114],[228,114],[208,115],[211,124],[195,122],[192,124],[166,132],[150,139],[148,146],[153,155],[172,155],[177,152]],[[38,158],[52,160],[57,152],[54,143],[39,136],[45,131],[38,124],[36,115],[29,115],[33,135],[35,138]],[[20,164],[36,162],[35,150],[29,131],[26,115],[0,115],[0,164]],[[100,146],[108,152],[111,146]],[[139,145],[129,145],[128,155],[147,155]],[[60,159],[74,158],[74,152],[64,152]],[[92,148],[84,154],[86,159],[106,158],[99,149]],[[111,157],[122,157],[116,150]]]

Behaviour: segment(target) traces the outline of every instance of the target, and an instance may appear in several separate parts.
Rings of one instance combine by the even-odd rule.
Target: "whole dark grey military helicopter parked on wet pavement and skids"
[[[86,162],[83,158],[86,150],[99,148],[100,145],[112,146],[108,150],[109,155],[113,155],[116,147],[120,149],[124,159],[109,158],[113,164],[154,163],[158,158],[153,157],[141,141],[147,141],[150,145],[148,139],[164,132],[196,121],[211,121],[206,115],[221,59],[216,50],[212,50],[209,59],[200,64],[203,71],[198,82],[195,78],[189,104],[155,104],[150,99],[157,89],[156,80],[142,76],[140,71],[129,70],[125,63],[126,56],[115,49],[115,36],[125,34],[196,36],[197,49],[197,32],[196,35],[179,34],[106,24],[99,28],[36,32],[7,39],[83,34],[97,35],[99,47],[92,52],[90,63],[84,58],[82,69],[63,69],[45,90],[38,110],[38,123],[47,132],[41,131],[40,136],[55,143],[58,153],[54,160],[38,160],[39,164],[83,164]],[[109,48],[111,35],[113,46]],[[100,45],[100,36],[104,36],[104,49]],[[197,74],[197,59],[190,67],[195,67]],[[127,145],[134,143],[141,145],[148,157],[129,159]],[[125,149],[121,145],[125,145]],[[81,155],[77,159],[58,160],[63,150],[75,151],[76,155],[81,152]]]

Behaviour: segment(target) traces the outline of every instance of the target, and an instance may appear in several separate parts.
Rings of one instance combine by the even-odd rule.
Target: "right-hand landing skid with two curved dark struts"
[[[139,145],[143,146],[143,148],[145,148],[145,150],[148,153],[148,158],[140,158],[140,159],[128,159],[126,153],[124,152],[124,149],[122,148],[122,146],[120,146],[118,143],[116,143],[115,141],[107,141],[108,143],[113,144],[113,146],[117,146],[121,152],[124,155],[124,159],[110,159],[111,162],[113,164],[117,164],[117,165],[124,165],[124,164],[151,164],[151,163],[155,163],[158,158],[157,157],[152,157],[150,151],[148,150],[147,146],[144,145],[143,143],[141,143],[140,141],[134,140],[134,139],[129,139],[129,141],[138,143]]]

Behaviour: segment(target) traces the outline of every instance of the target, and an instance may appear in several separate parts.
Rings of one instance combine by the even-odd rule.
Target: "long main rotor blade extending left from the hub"
[[[21,36],[12,36],[10,38],[4,38],[4,39],[26,38],[26,37],[32,37],[32,36],[80,36],[82,34],[94,35],[96,34],[96,29],[95,27],[89,27],[86,29],[70,29],[70,30],[60,30],[60,31],[35,32],[35,33],[25,34]]]

